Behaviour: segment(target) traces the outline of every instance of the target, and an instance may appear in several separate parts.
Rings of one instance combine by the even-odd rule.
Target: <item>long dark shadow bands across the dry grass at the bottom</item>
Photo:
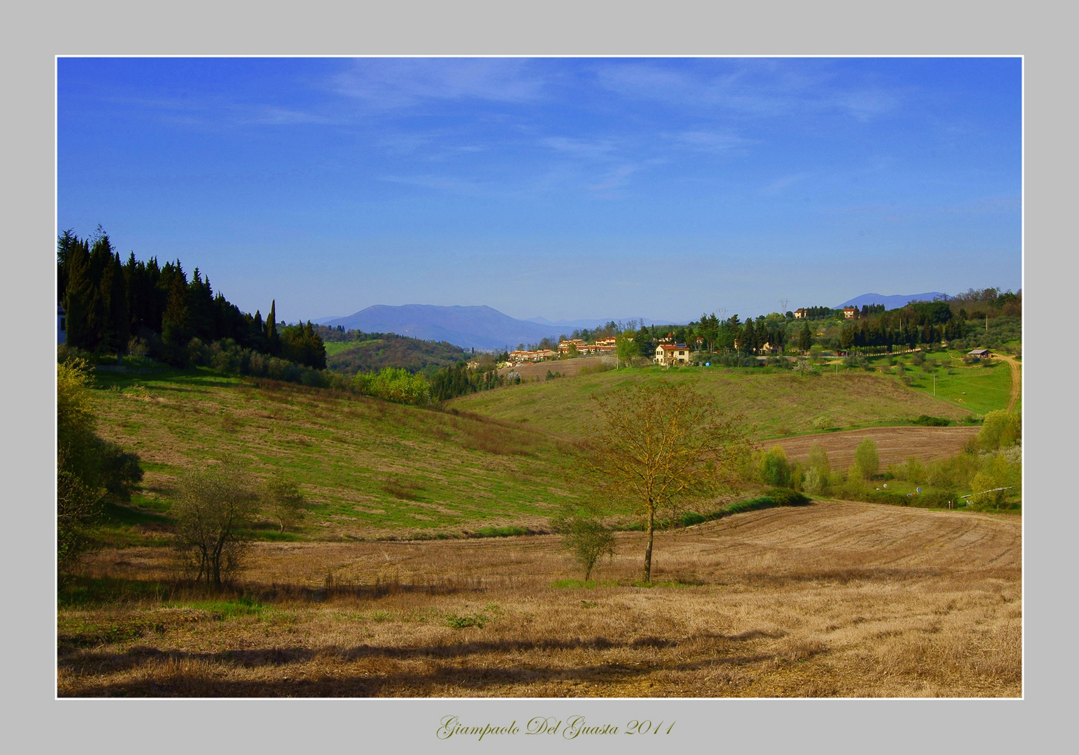
[[[702,634],[694,635],[682,643],[695,642],[695,655],[713,653],[713,657],[679,662],[664,658],[663,650],[678,647],[680,642],[658,637],[642,637],[628,643],[613,643],[605,637],[569,641],[492,641],[470,642],[457,645],[434,645],[413,648],[372,647],[359,645],[352,648],[261,648],[251,650],[227,650],[222,652],[164,651],[146,646],[133,647],[126,652],[82,652],[63,658],[59,668],[78,676],[106,674],[124,671],[135,672],[131,680],[95,685],[93,680],[80,685],[74,697],[427,697],[440,695],[446,688],[497,695],[510,685],[536,685],[550,682],[593,684],[619,684],[632,682],[657,671],[694,672],[718,665],[745,665],[757,663],[774,657],[774,653],[730,652],[736,643],[759,638],[774,638],[784,633],[768,633],[752,630],[737,635]],[[700,647],[701,644],[712,647]],[[611,651],[631,649],[642,651],[634,657],[633,664],[614,661],[593,663],[574,668],[507,668],[506,653],[530,650],[565,651],[597,650]],[[657,651],[658,655],[657,655]],[[481,665],[484,655],[493,653],[492,665]],[[453,661],[474,659],[472,664]],[[339,674],[320,673],[317,678],[277,679],[229,679],[221,678],[230,668],[259,669],[282,668],[303,664],[310,661],[324,663],[357,663],[364,660],[385,659],[390,661],[426,659],[445,661],[431,671],[380,673],[368,671],[356,674],[347,666]],[[320,671],[325,666],[320,666]],[[288,672],[288,669],[282,669]],[[139,673],[141,672],[141,673]],[[296,668],[296,674],[304,670]],[[62,692],[62,697],[69,695]]]

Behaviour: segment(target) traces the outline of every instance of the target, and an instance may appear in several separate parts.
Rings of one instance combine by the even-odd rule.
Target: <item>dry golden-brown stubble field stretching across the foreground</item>
[[[622,534],[593,589],[554,537],[262,543],[255,606],[144,599],[59,616],[60,696],[1016,697],[1014,517],[868,503]],[[166,553],[103,553],[152,579]],[[664,584],[666,582],[666,584]],[[329,588],[329,589],[327,589]]]

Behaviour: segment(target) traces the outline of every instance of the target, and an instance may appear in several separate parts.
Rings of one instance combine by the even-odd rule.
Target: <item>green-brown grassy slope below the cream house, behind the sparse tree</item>
[[[1007,369],[1007,367],[1006,367]],[[754,437],[775,437],[822,427],[903,422],[918,415],[961,419],[970,408],[933,399],[896,378],[827,369],[800,377],[771,368],[623,368],[598,375],[522,383],[454,399],[451,406],[488,417],[578,436],[591,414],[589,396],[638,382],[689,381],[740,413]]]

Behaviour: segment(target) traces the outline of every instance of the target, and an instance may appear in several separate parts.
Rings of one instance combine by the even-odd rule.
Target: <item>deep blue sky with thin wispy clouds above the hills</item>
[[[60,58],[57,230],[245,311],[1022,285],[1019,58]]]

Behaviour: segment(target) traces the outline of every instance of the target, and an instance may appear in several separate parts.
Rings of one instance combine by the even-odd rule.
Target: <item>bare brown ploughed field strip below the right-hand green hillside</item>
[[[933,459],[962,450],[967,441],[978,434],[980,428],[866,428],[865,430],[845,430],[843,432],[816,433],[784,437],[778,441],[765,441],[764,446],[783,447],[787,458],[805,461],[809,458],[809,449],[814,444],[820,444],[828,451],[828,460],[835,469],[846,469],[855,460],[855,448],[863,439],[871,437],[877,444],[882,467],[890,463],[901,463],[909,458]]]

